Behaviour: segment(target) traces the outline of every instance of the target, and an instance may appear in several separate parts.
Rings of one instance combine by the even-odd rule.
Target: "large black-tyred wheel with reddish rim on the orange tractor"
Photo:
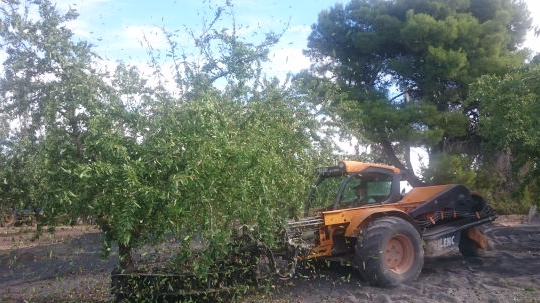
[[[414,280],[424,265],[420,234],[402,218],[377,219],[358,237],[355,260],[371,285],[393,287]]]

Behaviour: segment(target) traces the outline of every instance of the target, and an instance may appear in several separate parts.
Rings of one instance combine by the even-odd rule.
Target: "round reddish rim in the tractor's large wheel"
[[[413,245],[405,235],[395,235],[386,243],[384,262],[391,271],[402,274],[411,268],[413,260]]]

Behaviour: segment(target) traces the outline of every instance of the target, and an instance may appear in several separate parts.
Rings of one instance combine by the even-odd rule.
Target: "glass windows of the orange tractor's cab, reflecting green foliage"
[[[382,203],[389,198],[391,189],[392,177],[385,174],[321,177],[310,194],[306,215],[314,216],[326,210]]]

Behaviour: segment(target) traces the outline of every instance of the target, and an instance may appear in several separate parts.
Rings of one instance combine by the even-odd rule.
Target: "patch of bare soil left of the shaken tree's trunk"
[[[107,302],[116,252],[103,259],[91,226],[62,226],[34,239],[31,227],[0,228],[0,302]]]

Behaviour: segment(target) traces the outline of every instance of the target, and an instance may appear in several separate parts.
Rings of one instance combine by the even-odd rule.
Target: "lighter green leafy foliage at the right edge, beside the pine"
[[[472,85],[470,101],[480,104],[486,152],[507,151],[516,180],[540,188],[540,64],[483,76]]]

